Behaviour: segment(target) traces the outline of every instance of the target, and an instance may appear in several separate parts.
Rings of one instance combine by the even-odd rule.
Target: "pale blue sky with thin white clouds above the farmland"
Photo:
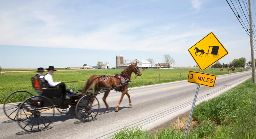
[[[221,63],[250,60],[249,36],[224,0],[3,0],[0,21],[3,68],[115,66],[120,54],[193,66],[188,48],[209,32],[229,51]]]

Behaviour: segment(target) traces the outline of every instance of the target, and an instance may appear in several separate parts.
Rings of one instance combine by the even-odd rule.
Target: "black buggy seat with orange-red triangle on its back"
[[[32,86],[36,92],[48,98],[59,98],[62,96],[62,89],[58,86],[50,87],[43,78],[32,77]]]

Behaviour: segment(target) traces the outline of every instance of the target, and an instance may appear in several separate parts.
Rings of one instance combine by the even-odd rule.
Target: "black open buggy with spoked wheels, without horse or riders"
[[[6,116],[25,131],[38,132],[46,129],[52,122],[57,109],[61,113],[76,115],[82,122],[95,119],[99,112],[99,101],[91,94],[82,96],[76,93],[69,95],[70,99],[62,97],[61,88],[47,86],[43,78],[32,77],[32,86],[39,94],[33,96],[28,91],[11,93],[4,102]],[[23,102],[9,103],[11,100],[22,98]],[[90,103],[93,105],[90,107]]]

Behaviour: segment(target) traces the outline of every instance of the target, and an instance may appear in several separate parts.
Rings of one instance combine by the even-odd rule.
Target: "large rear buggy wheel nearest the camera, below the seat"
[[[53,122],[54,107],[50,99],[45,96],[33,96],[19,105],[25,112],[24,118],[18,121],[18,125],[25,131],[38,132],[44,130]]]

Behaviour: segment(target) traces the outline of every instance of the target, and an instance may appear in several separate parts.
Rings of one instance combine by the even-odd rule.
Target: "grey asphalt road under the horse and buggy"
[[[217,76],[214,88],[200,87],[197,104],[220,95],[250,77],[251,71]],[[143,76],[138,78],[143,78]],[[54,122],[50,124],[49,128],[37,133],[23,131],[17,122],[6,118],[1,104],[0,138],[107,138],[125,126],[139,125],[143,129],[150,130],[189,111],[196,86],[196,84],[183,80],[132,88],[129,94],[133,106],[129,106],[128,98],[124,96],[119,112],[114,110],[121,97],[120,92],[111,91],[109,94],[107,98],[111,109],[109,112],[106,112],[105,105],[101,100],[103,94],[100,94],[97,96],[100,101],[100,113],[95,121],[81,123],[73,115],[61,114],[56,111]]]

